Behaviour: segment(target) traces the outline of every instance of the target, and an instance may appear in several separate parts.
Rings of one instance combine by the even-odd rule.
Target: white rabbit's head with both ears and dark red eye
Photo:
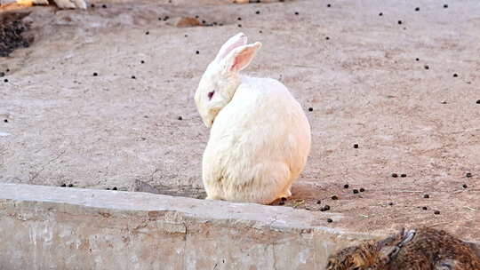
[[[195,103],[207,127],[212,126],[220,110],[233,98],[240,84],[238,72],[250,64],[260,47],[259,42],[247,44],[244,33],[238,33],[221,46],[206,68],[196,89]]]

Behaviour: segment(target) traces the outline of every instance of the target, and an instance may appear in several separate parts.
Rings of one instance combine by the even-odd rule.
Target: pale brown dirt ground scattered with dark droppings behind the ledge
[[[476,0],[171,2],[31,8],[35,43],[0,58],[0,181],[127,190],[140,180],[202,197],[208,130],[193,94],[243,31],[264,45],[245,72],[285,83],[312,126],[285,206],[344,214],[321,226],[426,225],[480,240]],[[196,15],[217,26],[172,26]]]

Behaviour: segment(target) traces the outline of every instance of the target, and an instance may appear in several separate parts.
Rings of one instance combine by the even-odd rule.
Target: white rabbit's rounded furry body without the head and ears
[[[271,203],[290,192],[309,149],[308,119],[286,87],[244,77],[212,125],[204,183],[218,181],[225,200]]]

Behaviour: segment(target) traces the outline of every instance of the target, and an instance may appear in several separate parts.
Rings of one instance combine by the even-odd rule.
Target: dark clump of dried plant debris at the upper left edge
[[[0,13],[0,57],[7,57],[17,48],[27,48],[33,36],[25,35],[30,24],[23,19],[30,12]]]

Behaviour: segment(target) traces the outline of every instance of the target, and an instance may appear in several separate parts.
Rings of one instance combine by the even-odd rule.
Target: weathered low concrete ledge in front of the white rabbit
[[[1,269],[323,269],[370,239],[340,215],[166,195],[0,184]]]

